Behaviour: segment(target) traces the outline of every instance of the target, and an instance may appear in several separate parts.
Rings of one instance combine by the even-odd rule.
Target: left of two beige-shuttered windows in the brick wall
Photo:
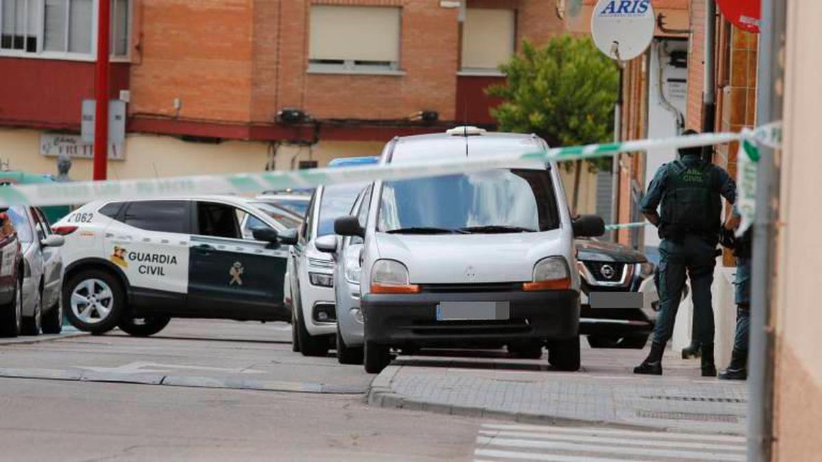
[[[312,72],[397,72],[398,7],[314,5],[308,70]]]

